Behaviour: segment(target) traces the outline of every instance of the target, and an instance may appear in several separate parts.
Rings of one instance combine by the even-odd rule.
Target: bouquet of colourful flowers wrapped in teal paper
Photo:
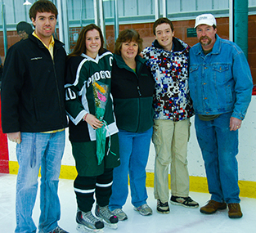
[[[95,104],[95,115],[97,119],[103,120],[106,103],[108,101],[109,94],[109,85],[105,83],[101,83],[98,81],[94,81],[92,83],[93,87],[93,96],[94,96],[94,104]],[[105,156],[106,150],[106,122],[103,121],[103,125],[101,128],[97,128],[96,130],[96,146],[97,146],[97,160],[98,165],[101,164],[102,159]]]

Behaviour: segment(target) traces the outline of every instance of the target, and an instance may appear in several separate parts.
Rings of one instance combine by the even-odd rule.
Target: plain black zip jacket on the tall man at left
[[[63,45],[55,40],[54,60],[33,35],[10,47],[2,75],[2,132],[67,127]]]

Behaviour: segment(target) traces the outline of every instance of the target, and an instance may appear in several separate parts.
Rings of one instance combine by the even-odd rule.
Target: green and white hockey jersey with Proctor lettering
[[[96,130],[83,116],[96,115],[92,83],[94,81],[109,86],[108,101],[103,120],[107,123],[106,137],[118,132],[113,113],[113,101],[110,95],[113,54],[104,51],[95,59],[85,54],[72,56],[67,60],[65,78],[65,110],[70,118],[70,141],[95,141]]]

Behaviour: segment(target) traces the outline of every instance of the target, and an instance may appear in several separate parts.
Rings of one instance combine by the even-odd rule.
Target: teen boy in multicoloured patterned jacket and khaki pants
[[[174,38],[173,23],[159,18],[153,25],[155,41],[142,54],[155,78],[155,199],[157,212],[169,213],[168,166],[171,164],[172,204],[199,206],[189,197],[186,150],[193,115],[188,90],[189,46]]]

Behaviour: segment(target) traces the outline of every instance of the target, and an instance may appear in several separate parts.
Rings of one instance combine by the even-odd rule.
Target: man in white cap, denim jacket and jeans
[[[239,218],[238,129],[251,100],[252,77],[240,47],[216,34],[213,15],[197,16],[195,29],[199,43],[190,50],[189,87],[211,194],[200,212],[215,213],[228,204],[228,217]]]

